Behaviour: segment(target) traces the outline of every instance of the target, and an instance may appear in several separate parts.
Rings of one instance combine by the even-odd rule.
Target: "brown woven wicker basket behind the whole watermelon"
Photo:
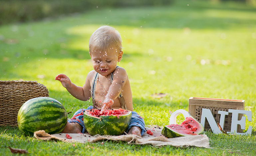
[[[18,126],[17,115],[27,100],[49,97],[48,89],[37,81],[0,81],[0,126]]]

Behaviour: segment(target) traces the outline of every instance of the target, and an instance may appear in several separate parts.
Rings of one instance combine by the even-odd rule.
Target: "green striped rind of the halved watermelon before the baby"
[[[131,111],[121,116],[100,117],[88,115],[86,112],[84,113],[84,124],[90,135],[122,135],[131,121]]]

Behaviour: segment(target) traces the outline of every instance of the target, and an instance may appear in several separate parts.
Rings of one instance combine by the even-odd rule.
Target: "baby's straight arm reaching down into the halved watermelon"
[[[114,103],[114,100],[118,97],[122,91],[128,76],[124,68],[117,68],[113,73],[113,82],[109,87],[108,93],[103,101],[103,107],[101,114],[106,108]]]

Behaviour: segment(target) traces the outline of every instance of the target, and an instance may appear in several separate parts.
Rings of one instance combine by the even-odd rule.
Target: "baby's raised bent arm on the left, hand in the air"
[[[90,82],[89,82],[89,76],[86,77],[86,81],[85,81],[85,84],[83,85],[83,87],[77,86],[74,83],[72,83],[70,78],[67,77],[65,74],[57,75],[55,80],[59,80],[61,82],[61,84],[68,90],[68,92],[71,95],[73,95],[75,98],[82,100],[82,101],[87,101],[90,99],[91,87],[90,87]]]

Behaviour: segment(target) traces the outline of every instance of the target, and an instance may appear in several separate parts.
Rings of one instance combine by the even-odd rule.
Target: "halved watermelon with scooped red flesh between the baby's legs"
[[[107,109],[100,114],[100,109],[90,109],[84,112],[85,129],[91,135],[121,135],[131,120],[131,111],[120,109]]]

